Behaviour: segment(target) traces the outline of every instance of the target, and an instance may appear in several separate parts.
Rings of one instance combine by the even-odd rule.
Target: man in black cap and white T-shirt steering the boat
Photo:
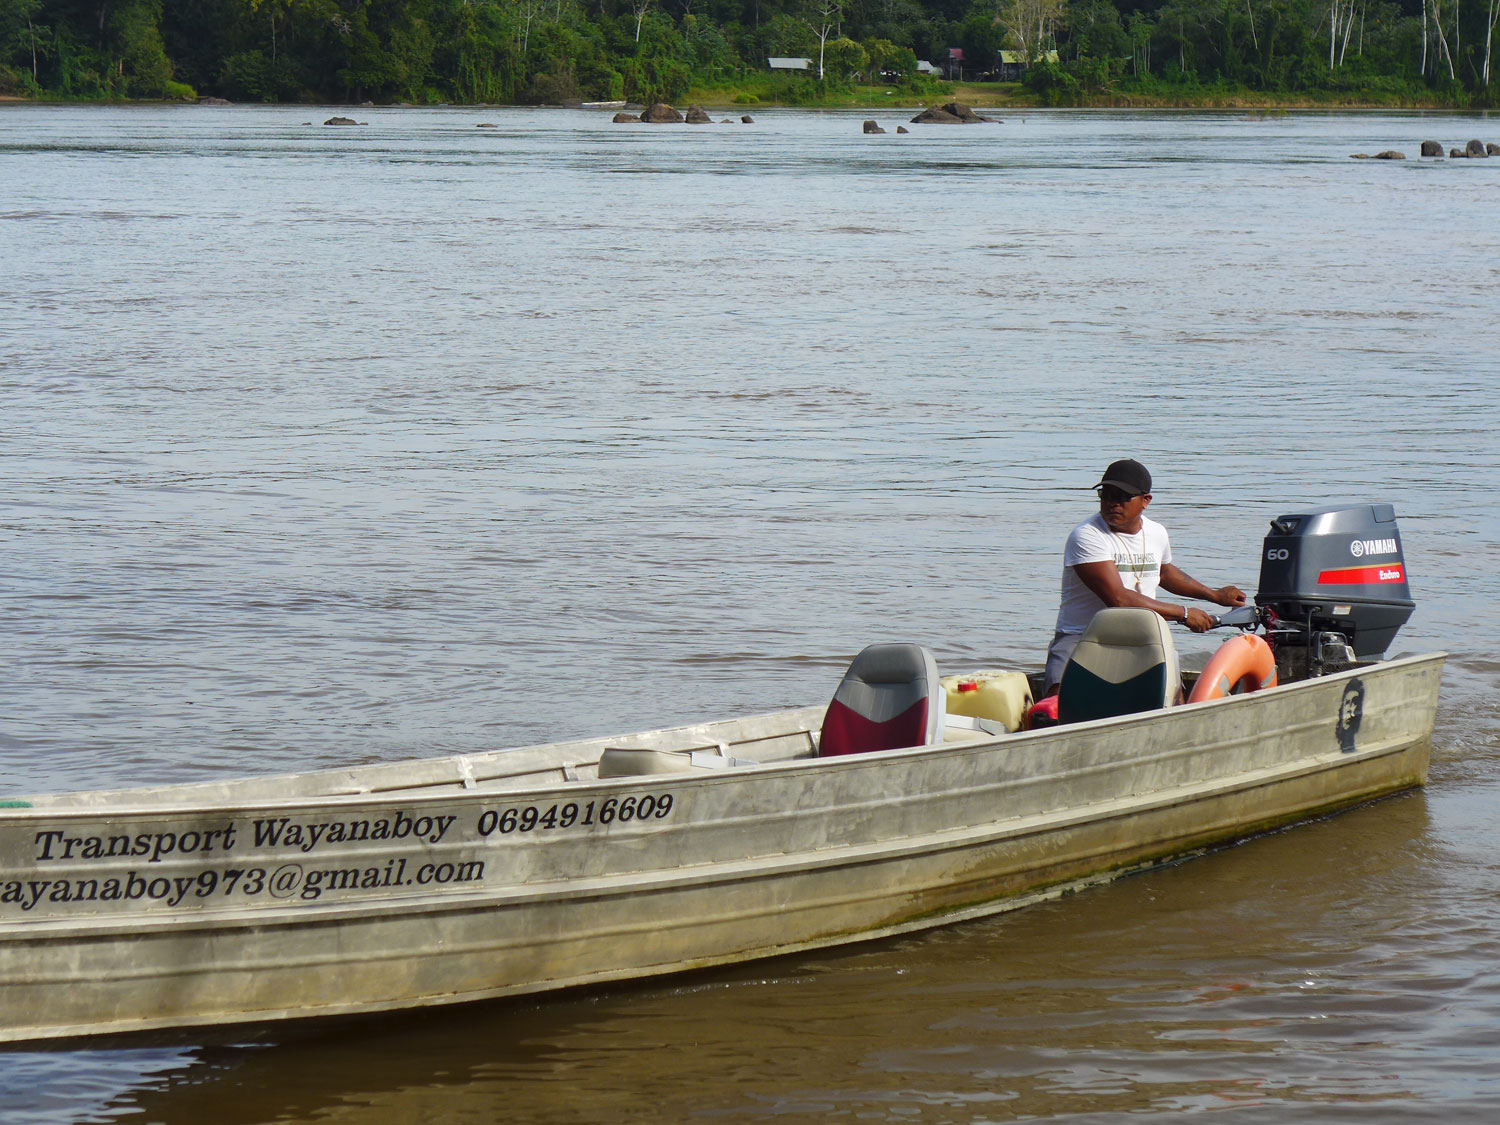
[[[1158,588],[1220,606],[1245,604],[1238,586],[1210,590],[1173,566],[1167,530],[1146,519],[1150,472],[1144,465],[1128,458],[1116,460],[1094,488],[1100,510],[1070,532],[1062,552],[1062,604],[1047,648],[1047,694],[1056,693],[1078,638],[1106,606],[1140,606],[1202,633],[1214,618],[1202,609],[1158,600]]]

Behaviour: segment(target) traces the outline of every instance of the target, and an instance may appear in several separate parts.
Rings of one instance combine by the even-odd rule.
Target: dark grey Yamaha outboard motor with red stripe
[[[1256,604],[1282,682],[1380,657],[1416,606],[1395,510],[1359,504],[1270,520]]]

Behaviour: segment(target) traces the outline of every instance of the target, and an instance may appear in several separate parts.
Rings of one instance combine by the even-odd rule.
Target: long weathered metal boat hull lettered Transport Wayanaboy
[[[838,758],[818,705],[9,800],[0,1041],[538,993],[1006,910],[1422,784],[1442,666]],[[640,752],[682,770],[600,777]]]

